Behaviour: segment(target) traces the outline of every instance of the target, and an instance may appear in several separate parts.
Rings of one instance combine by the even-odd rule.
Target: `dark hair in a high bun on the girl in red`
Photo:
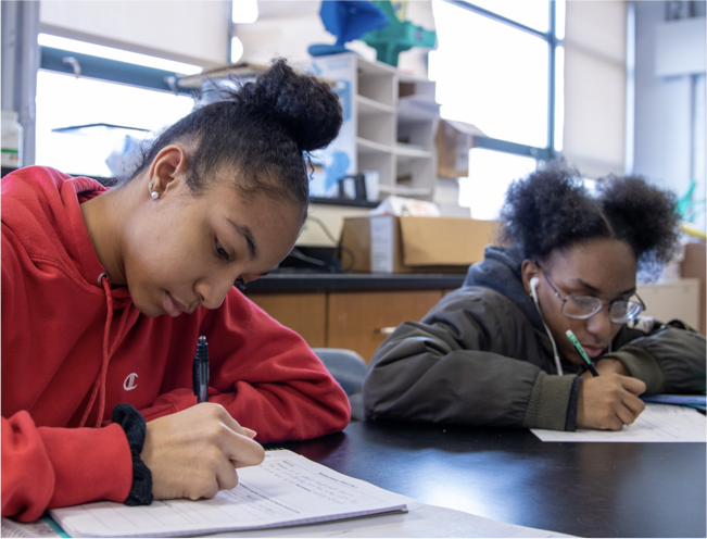
[[[306,212],[308,152],[339,134],[343,115],[337,95],[328,84],[298,74],[278,59],[255,82],[222,88],[219,96],[225,99],[164,130],[127,181],[148,168],[160,150],[180,142],[190,149],[187,184],[193,196],[226,168],[236,173],[235,186],[242,193],[285,196]]]

